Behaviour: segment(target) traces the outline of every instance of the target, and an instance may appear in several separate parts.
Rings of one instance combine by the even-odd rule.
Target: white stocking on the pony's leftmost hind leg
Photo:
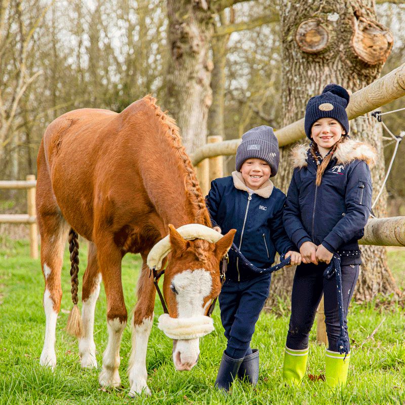
[[[44,293],[44,310],[46,317],[45,342],[41,357],[39,358],[39,364],[51,367],[53,370],[56,366],[55,330],[58,313],[54,310],[54,302],[48,289]]]

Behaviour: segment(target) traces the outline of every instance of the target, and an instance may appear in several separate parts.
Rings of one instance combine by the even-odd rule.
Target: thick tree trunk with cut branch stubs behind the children
[[[391,49],[390,38],[387,38],[385,48],[382,46],[380,50],[375,50],[375,54],[368,55],[368,59],[362,55],[367,48],[367,35],[371,35],[371,31],[363,27],[364,21],[374,24],[373,29],[377,36],[379,28],[384,36],[383,28],[375,21],[372,0],[314,0],[310,3],[306,0],[294,3],[281,0],[280,14],[284,125],[302,117],[308,99],[320,94],[327,84],[336,83],[349,92],[354,92],[379,77],[384,59]],[[312,26],[302,35],[301,31],[308,24]],[[374,51],[373,47],[371,50]],[[350,126],[352,138],[366,140],[377,149],[379,158],[372,170],[376,196],[385,172],[381,125],[370,116],[356,118],[350,122]],[[288,163],[289,150],[290,147],[281,150],[280,167],[276,176],[276,184],[284,192],[287,192],[292,177],[292,169]],[[386,198],[384,192],[374,208],[377,217],[386,215]],[[396,290],[387,268],[385,247],[363,247],[362,261],[354,293],[356,300],[369,300],[378,293],[387,294]],[[292,269],[275,273],[266,306],[274,305],[277,296],[291,297],[293,276]]]

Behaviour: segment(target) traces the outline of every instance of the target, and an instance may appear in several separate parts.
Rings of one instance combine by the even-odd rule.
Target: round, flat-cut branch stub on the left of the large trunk
[[[328,30],[321,24],[320,19],[310,18],[299,25],[295,41],[301,51],[317,53],[328,46]]]

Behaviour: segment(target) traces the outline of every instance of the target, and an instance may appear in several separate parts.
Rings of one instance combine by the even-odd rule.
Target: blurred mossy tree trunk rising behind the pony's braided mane
[[[167,8],[171,56],[165,106],[176,119],[183,145],[190,153],[204,145],[207,137],[213,23],[205,0],[168,0]]]

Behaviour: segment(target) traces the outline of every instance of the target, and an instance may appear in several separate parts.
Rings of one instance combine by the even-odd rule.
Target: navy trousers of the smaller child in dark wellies
[[[260,311],[269,295],[271,274],[253,279],[226,279],[219,295],[222,326],[228,340],[225,353],[231,358],[251,354],[250,342]]]

